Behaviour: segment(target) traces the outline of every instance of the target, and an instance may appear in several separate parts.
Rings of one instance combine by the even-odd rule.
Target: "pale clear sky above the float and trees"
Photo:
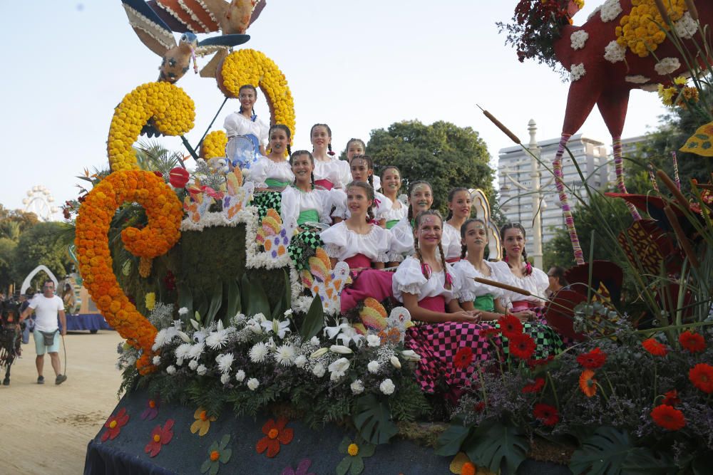
[[[327,122],[335,150],[351,137],[399,120],[447,120],[473,127],[496,164],[512,145],[476,103],[526,142],[530,118],[540,140],[560,135],[568,83],[532,61],[519,63],[504,45],[497,21],[508,21],[512,1],[268,0],[243,45],[272,58],[294,96],[294,147],[309,148],[309,127]],[[600,1],[575,16],[583,23]],[[113,108],[136,86],[158,78],[160,58],[143,46],[120,0],[39,0],[0,3],[4,71],[0,78],[0,133],[4,186],[0,203],[21,208],[34,185],[56,202],[75,198],[84,167],[106,167]],[[200,39],[207,36],[200,36]],[[177,36],[178,38],[178,36]],[[207,59],[199,59],[199,66]],[[192,71],[178,82],[195,101],[195,145],[222,93],[215,80]],[[213,129],[235,110],[229,100]],[[256,106],[267,113],[264,100]],[[653,93],[635,90],[624,137],[641,135],[663,113]],[[608,142],[595,110],[582,130]],[[169,147],[180,141],[164,139]]]

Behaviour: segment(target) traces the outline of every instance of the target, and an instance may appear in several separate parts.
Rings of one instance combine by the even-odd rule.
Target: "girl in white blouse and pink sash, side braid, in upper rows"
[[[349,163],[332,152],[332,129],[327,124],[314,124],[309,131],[314,156],[314,183],[324,189],[344,188],[352,181]]]

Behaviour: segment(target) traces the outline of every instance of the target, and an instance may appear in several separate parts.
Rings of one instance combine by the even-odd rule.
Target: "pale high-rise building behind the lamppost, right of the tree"
[[[550,172],[559,143],[559,137],[538,142],[540,163],[535,163],[540,172],[540,188],[543,195],[540,202],[543,244],[553,238],[555,229],[565,226],[553,174]],[[583,198],[586,197],[583,182],[587,182],[590,187],[595,189],[607,187],[614,178],[614,165],[608,163],[610,157],[604,142],[578,134],[571,137],[567,146],[574,161],[565,152],[562,161],[565,184],[572,188],[575,194]],[[522,223],[529,231],[533,228],[532,157],[520,146],[503,148],[498,152],[498,155],[498,186],[500,188],[498,204],[508,221]],[[575,167],[575,162],[580,168],[581,176]],[[572,191],[568,192],[568,195],[571,206],[574,206],[577,198]],[[535,209],[536,211],[537,209]],[[533,236],[531,232],[528,233],[525,249],[528,254],[532,254]]]

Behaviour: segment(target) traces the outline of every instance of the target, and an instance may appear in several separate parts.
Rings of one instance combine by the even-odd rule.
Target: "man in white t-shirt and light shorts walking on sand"
[[[42,375],[42,370],[44,368],[44,354],[49,353],[54,374],[56,375],[54,384],[61,385],[67,380],[67,377],[60,372],[60,330],[57,325],[57,316],[59,315],[59,320],[62,325],[62,335],[67,334],[67,320],[64,315],[64,303],[62,299],[54,295],[53,281],[45,281],[42,286],[42,293],[37,294],[32,301],[30,301],[29,306],[21,313],[20,321],[29,317],[33,310],[36,313],[35,330],[32,335],[35,339],[35,350],[37,351],[37,357],[35,359],[35,365],[37,367],[37,384],[44,384],[44,376]]]

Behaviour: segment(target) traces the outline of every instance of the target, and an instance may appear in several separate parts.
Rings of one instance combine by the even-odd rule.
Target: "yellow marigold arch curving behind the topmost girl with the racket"
[[[225,58],[217,73],[218,87],[228,98],[237,98],[240,86],[252,84],[260,87],[267,98],[273,124],[294,130],[294,100],[282,71],[265,53],[253,49],[234,51]]]

